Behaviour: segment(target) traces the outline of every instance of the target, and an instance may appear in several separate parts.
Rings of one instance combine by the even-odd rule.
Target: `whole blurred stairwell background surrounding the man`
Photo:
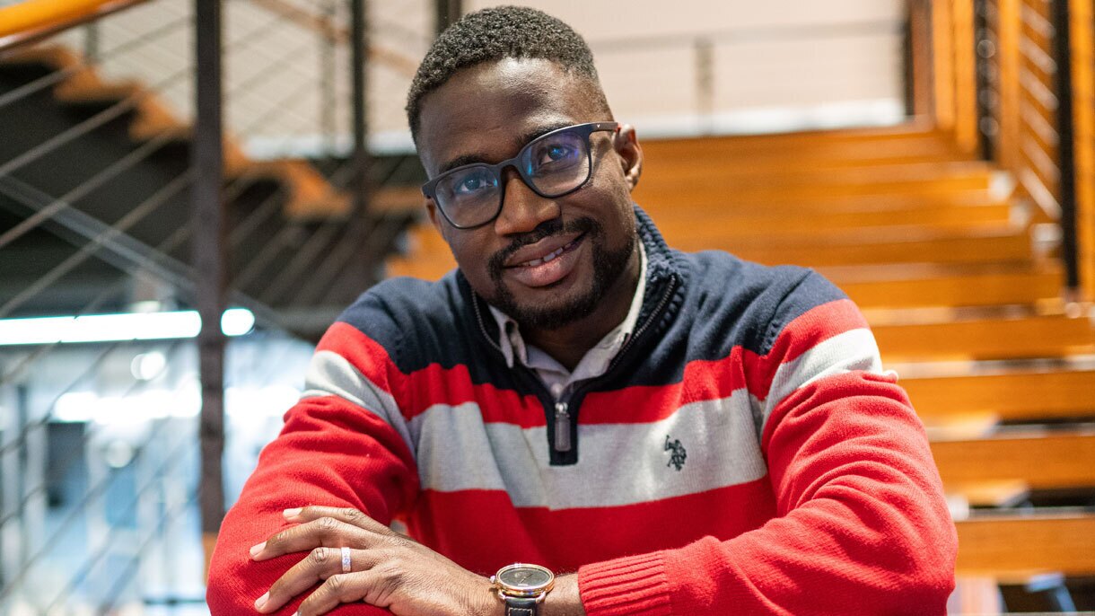
[[[867,315],[954,614],[1095,609],[1092,0],[517,2],[586,36],[671,246]],[[0,0],[0,614],[207,614],[224,507],[369,285],[454,264],[403,112],[481,0]]]

